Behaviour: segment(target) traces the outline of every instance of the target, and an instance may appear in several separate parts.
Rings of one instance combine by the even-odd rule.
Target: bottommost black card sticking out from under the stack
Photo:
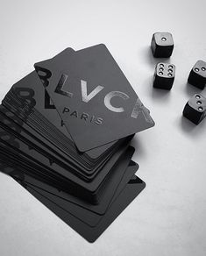
[[[138,177],[134,176],[131,181],[128,182],[124,191],[117,197],[115,202],[112,203],[110,209],[103,216],[99,224],[95,227],[90,227],[89,225],[84,224],[80,219],[69,214],[66,210],[63,210],[59,204],[53,203],[53,201],[48,199],[44,193],[39,194],[39,192],[30,187],[27,187],[26,189],[28,189],[28,191],[41,203],[44,203],[48,209],[52,210],[55,215],[60,217],[66,224],[77,231],[83,238],[87,239],[90,243],[93,243],[133,201],[133,199],[139,195],[145,186],[144,181],[141,181]]]

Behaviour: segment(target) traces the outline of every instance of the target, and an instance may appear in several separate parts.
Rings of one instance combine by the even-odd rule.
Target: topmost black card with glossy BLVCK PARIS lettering
[[[81,152],[154,125],[103,44],[67,54],[56,63],[37,63],[35,69]]]

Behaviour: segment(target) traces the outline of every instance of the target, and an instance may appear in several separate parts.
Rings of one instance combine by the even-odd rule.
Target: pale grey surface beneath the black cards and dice
[[[146,189],[110,228],[89,244],[0,174],[0,255],[206,255],[206,120],[181,117],[196,60],[206,60],[202,1],[0,1],[0,96],[32,71],[34,62],[67,46],[104,43],[156,126],[139,133],[133,160]],[[172,32],[171,92],[152,87],[153,32]],[[206,96],[206,91],[202,91]]]

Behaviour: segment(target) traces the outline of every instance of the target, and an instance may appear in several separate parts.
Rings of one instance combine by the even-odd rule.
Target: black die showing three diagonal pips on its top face
[[[194,124],[199,124],[206,116],[206,98],[200,94],[192,96],[184,107],[183,116]]]

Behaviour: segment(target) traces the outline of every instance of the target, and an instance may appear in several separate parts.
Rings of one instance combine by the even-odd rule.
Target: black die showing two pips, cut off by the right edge
[[[206,62],[198,60],[190,71],[188,83],[199,89],[204,89],[206,84]]]

